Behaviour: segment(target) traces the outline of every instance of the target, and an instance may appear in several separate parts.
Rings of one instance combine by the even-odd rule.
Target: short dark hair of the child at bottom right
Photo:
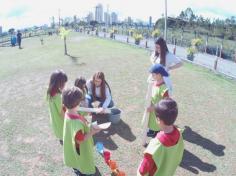
[[[173,125],[177,115],[177,103],[171,98],[164,98],[155,105],[155,114],[165,125]]]

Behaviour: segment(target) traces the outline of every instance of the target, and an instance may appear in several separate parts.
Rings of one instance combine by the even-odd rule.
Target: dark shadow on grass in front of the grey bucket
[[[108,122],[106,116],[96,116],[93,121],[97,121],[98,124]],[[130,127],[121,120],[118,124],[111,125],[107,130],[103,130],[94,135],[94,143],[102,142],[104,147],[109,150],[116,150],[118,145],[111,139],[111,135],[118,134],[120,137],[127,141],[134,141],[136,137],[132,133]]]

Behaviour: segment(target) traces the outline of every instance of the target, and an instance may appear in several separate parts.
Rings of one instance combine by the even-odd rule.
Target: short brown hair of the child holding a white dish
[[[62,92],[62,102],[67,109],[73,109],[79,105],[83,96],[82,90],[74,86]]]

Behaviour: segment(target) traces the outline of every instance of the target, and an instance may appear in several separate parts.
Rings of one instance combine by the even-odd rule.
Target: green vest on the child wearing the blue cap
[[[151,103],[153,105],[157,104],[161,99],[163,99],[166,91],[168,91],[168,88],[165,84],[162,84],[160,87],[153,86]],[[160,131],[155,112],[149,113],[148,128],[153,131]]]

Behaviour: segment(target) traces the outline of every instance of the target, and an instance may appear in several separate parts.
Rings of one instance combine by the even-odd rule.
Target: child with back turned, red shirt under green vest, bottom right
[[[177,103],[171,98],[165,98],[154,109],[161,131],[151,139],[144,151],[137,176],[172,176],[184,151],[182,134],[174,126],[178,115]]]

